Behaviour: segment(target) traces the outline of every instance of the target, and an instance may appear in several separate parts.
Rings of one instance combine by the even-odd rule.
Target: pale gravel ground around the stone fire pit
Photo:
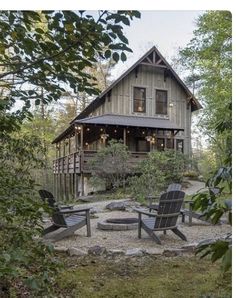
[[[192,194],[204,187],[204,184],[201,182],[194,183],[191,181],[191,184],[192,186],[190,188],[184,190],[187,194]],[[105,247],[107,250],[119,249],[126,251],[127,249],[139,248],[152,253],[162,253],[165,249],[181,248],[187,244],[196,244],[202,240],[218,238],[231,232],[231,226],[228,224],[213,226],[209,223],[193,219],[193,225],[189,226],[188,217],[186,218],[186,223],[182,223],[181,217],[179,217],[179,229],[185,234],[188,241],[185,242],[181,240],[171,231],[167,231],[166,235],[159,232],[157,235],[160,236],[162,245],[158,245],[143,230],[142,238],[138,239],[137,229],[126,231],[105,231],[97,229],[97,222],[108,218],[138,217],[137,213],[133,211],[109,211],[104,209],[110,202],[114,202],[114,200],[83,205],[93,207],[98,211],[95,214],[97,218],[91,218],[92,237],[86,237],[86,227],[83,227],[77,230],[73,236],[58,241],[56,245],[66,248],[76,247],[84,250],[95,245]],[[121,200],[118,200],[118,202],[121,202]]]

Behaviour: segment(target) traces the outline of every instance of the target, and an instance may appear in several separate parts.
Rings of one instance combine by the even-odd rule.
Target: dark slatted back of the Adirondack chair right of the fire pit
[[[175,227],[184,201],[183,191],[169,191],[161,195],[155,228]]]

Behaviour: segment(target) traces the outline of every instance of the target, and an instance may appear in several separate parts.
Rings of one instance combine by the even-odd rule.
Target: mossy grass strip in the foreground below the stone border
[[[57,297],[231,297],[231,273],[196,257],[66,258],[65,264]]]

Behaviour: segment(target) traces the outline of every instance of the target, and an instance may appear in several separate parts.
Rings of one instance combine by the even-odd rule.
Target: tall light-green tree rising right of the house
[[[206,12],[197,20],[194,38],[180,51],[180,62],[190,69],[188,81],[197,83],[203,104],[198,127],[208,136],[218,166],[231,151],[232,16],[229,11]],[[216,130],[224,122],[228,129]]]

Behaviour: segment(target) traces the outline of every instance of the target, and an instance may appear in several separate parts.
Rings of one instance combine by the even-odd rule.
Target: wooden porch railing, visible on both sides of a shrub
[[[91,168],[88,164],[97,151],[77,151],[64,157],[60,157],[53,161],[54,174],[80,174],[90,173]],[[147,157],[147,152],[130,152],[131,156],[128,163],[135,166],[140,160]]]

